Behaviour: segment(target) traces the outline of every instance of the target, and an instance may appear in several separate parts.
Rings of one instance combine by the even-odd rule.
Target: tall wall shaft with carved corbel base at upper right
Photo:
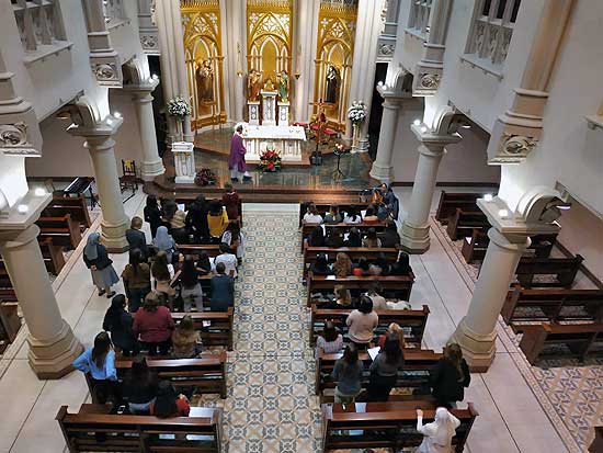
[[[494,122],[488,163],[519,163],[541,139],[548,86],[573,4],[573,0],[545,2],[513,104]]]

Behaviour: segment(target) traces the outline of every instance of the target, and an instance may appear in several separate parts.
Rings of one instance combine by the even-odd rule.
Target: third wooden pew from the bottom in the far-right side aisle
[[[570,288],[584,261],[581,254],[573,258],[527,258],[522,257],[515,275],[524,287],[566,287]],[[555,275],[553,282],[534,282],[534,275]]]

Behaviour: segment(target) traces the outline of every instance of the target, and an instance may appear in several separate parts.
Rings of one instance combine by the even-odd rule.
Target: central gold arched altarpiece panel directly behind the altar
[[[277,76],[292,73],[292,0],[247,0],[247,68],[277,86]],[[291,84],[289,84],[291,87]],[[289,102],[292,102],[289,89]]]

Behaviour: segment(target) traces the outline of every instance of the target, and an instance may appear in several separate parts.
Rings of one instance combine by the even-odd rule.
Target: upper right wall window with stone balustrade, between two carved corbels
[[[509,52],[521,0],[478,0],[466,54],[478,63],[501,66]]]

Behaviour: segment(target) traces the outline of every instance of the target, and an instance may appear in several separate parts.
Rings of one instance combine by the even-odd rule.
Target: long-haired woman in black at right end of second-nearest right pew
[[[465,387],[469,386],[471,375],[463,359],[463,351],[456,343],[444,348],[444,356],[437,361],[430,373],[431,394],[439,406],[452,408],[456,401],[465,398]]]

